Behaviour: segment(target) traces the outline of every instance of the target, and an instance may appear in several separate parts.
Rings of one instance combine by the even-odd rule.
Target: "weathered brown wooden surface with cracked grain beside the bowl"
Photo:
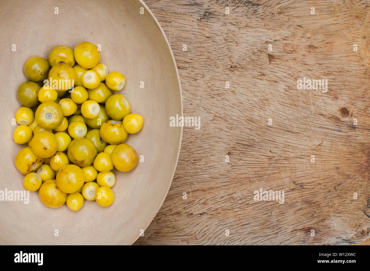
[[[369,1],[145,3],[174,52],[184,116],[201,128],[184,127],[169,193],[135,244],[369,237]],[[297,90],[303,77],[328,91]],[[285,203],[254,201],[260,188],[284,190]]]

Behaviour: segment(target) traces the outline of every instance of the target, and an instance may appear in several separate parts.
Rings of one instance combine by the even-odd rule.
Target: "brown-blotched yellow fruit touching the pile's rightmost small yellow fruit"
[[[100,127],[100,136],[102,140],[109,144],[121,144],[127,138],[128,133],[123,128],[122,121],[108,120]]]

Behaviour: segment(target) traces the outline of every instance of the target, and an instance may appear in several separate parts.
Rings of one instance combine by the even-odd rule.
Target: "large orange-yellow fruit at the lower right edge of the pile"
[[[138,163],[138,154],[134,148],[127,144],[120,144],[114,148],[111,160],[119,171],[130,171]]]

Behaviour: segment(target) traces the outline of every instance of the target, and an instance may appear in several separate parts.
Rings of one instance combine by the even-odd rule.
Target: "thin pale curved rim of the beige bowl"
[[[171,57],[172,57],[172,61],[174,63],[174,66],[175,66],[175,70],[176,70],[176,75],[177,75],[177,81],[178,81],[178,84],[179,84],[179,90],[180,90],[180,104],[181,104],[181,116],[183,115],[183,104],[182,104],[182,90],[181,90],[181,80],[180,80],[180,76],[179,76],[179,71],[177,69],[177,65],[176,65],[176,60],[175,60],[175,56],[174,56],[174,53],[172,52],[172,48],[171,48],[171,45],[169,44],[168,42],[168,39],[167,39],[167,36],[166,34],[164,33],[162,27],[161,27],[161,24],[159,24],[159,21],[157,20],[157,18],[154,16],[154,14],[152,13],[152,11],[149,9],[149,7],[147,6],[147,4],[144,3],[143,0],[138,0],[145,8],[146,11],[149,12],[149,14],[152,16],[152,18],[154,19],[155,23],[157,23],[157,26],[159,27],[159,30],[161,30],[162,32],[162,35],[164,36],[164,39],[166,41],[166,44],[169,48],[169,51],[171,53]],[[178,147],[178,151],[177,151],[177,158],[176,158],[176,163],[175,163],[175,168],[174,168],[174,172],[172,173],[172,177],[171,177],[171,180],[169,182],[169,185],[168,185],[168,188],[167,188],[167,191],[166,191],[166,194],[164,195],[164,197],[162,198],[162,201],[161,201],[161,204],[159,205],[158,207],[158,210],[155,212],[155,214],[153,215],[153,217],[149,220],[148,224],[145,226],[144,228],[144,232],[145,230],[147,230],[147,228],[149,227],[149,225],[152,223],[154,217],[158,214],[158,211],[159,209],[161,209],[163,203],[164,203],[164,200],[166,199],[167,197],[167,194],[168,194],[168,191],[169,191],[169,188],[171,187],[171,184],[172,184],[172,180],[174,179],[174,175],[175,175],[175,171],[176,171],[176,168],[177,168],[177,163],[179,161],[179,156],[180,156],[180,150],[181,150],[181,143],[182,143],[182,131],[183,131],[183,127],[181,126],[181,133],[180,133],[180,142],[179,142],[179,147]],[[138,239],[139,239],[140,235],[137,235],[137,237],[135,237],[132,242],[130,242],[130,244],[134,244],[134,242],[136,242]]]

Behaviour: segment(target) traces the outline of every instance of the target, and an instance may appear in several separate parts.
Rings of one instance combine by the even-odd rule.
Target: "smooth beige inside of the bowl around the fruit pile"
[[[114,170],[115,201],[110,207],[85,200],[78,212],[65,204],[52,209],[40,202],[37,191],[30,192],[28,204],[3,201],[0,244],[131,244],[161,207],[181,144],[181,127],[169,126],[171,116],[181,116],[182,106],[178,73],[164,33],[139,0],[62,0],[55,7],[44,1],[16,0],[4,2],[0,14],[0,190],[24,190],[24,175],[15,167],[14,157],[26,145],[14,143],[17,126],[12,119],[21,107],[16,90],[27,81],[23,66],[29,57],[47,59],[58,45],[101,44],[100,62],[109,71],[124,74],[126,84],[119,93],[131,103],[132,113],[144,116],[142,130],[125,142],[144,161],[128,173]]]

